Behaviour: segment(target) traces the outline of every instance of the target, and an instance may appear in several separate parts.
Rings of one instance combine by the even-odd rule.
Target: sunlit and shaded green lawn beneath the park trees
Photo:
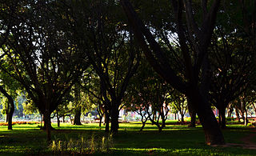
[[[91,136],[101,140],[106,137],[104,127],[97,123],[73,126],[68,123],[53,124],[56,130],[52,131],[54,141],[79,140],[85,138],[91,141]],[[87,154],[96,155],[255,155],[256,150],[242,149],[238,146],[212,147],[206,146],[201,126],[188,128],[167,122],[166,128],[159,133],[156,126],[146,124],[145,130],[138,131],[139,122],[121,123],[120,131],[114,136],[113,145],[108,151],[92,151]],[[250,134],[246,126],[230,125],[230,129],[222,130],[226,142],[242,143],[241,138]],[[0,126],[0,155],[54,155],[46,142],[46,133],[39,130],[38,124],[14,125],[14,130],[7,130],[7,126]],[[256,143],[256,139],[251,141]],[[96,142],[97,143],[97,142]],[[76,150],[76,146],[72,147]],[[69,151],[72,153],[72,151]]]

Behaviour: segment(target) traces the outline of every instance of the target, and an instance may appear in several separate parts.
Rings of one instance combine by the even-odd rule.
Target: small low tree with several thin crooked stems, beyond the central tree
[[[141,60],[138,72],[134,74],[126,96],[126,108],[134,110],[142,117],[142,128],[146,121],[158,126],[158,130],[166,126],[165,122],[169,112],[169,99],[171,88],[166,84],[145,59]],[[162,123],[160,123],[160,118]]]

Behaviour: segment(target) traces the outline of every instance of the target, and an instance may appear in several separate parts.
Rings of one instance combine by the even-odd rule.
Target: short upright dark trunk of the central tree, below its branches
[[[118,117],[119,117],[119,110],[118,110],[118,104],[114,104],[111,111],[111,127],[110,131],[111,133],[118,133]]]

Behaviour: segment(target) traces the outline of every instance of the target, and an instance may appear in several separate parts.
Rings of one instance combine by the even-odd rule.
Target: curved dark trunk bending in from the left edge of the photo
[[[0,92],[8,99],[9,106],[6,109],[6,122],[8,122],[8,130],[13,130],[13,114],[14,114],[14,99],[0,86]]]

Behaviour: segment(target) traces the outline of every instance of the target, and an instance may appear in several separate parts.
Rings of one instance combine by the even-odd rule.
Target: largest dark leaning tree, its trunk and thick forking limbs
[[[169,82],[171,86],[190,98],[190,102],[202,123],[206,143],[209,145],[223,144],[222,131],[208,101],[210,84],[208,47],[210,46],[220,1],[202,1],[202,6],[197,8],[200,10],[202,21],[196,21],[191,1],[173,0],[171,2],[176,19],[174,21],[176,25],[175,33],[178,35],[179,50],[182,53],[181,59],[185,65],[185,82],[182,81],[183,78],[178,75],[179,73],[175,72],[173,66],[170,66],[170,60],[162,51],[162,47],[155,41],[150,28],[146,27],[138,18],[138,14],[134,11],[130,2],[122,0],[121,4],[150,65],[166,82]],[[186,17],[185,23],[182,17]],[[173,47],[170,46],[169,48],[172,53],[174,51]]]

